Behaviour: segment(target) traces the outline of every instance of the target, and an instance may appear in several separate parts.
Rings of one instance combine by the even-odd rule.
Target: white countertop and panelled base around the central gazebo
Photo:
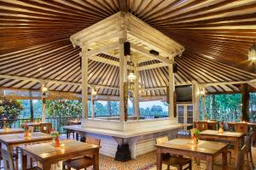
[[[177,138],[177,131],[188,124],[172,124],[159,127],[151,127],[144,129],[134,129],[123,132],[110,129],[81,127],[80,125],[66,126],[65,128],[72,129],[81,136],[93,136],[101,139],[100,153],[104,156],[114,157],[117,151],[118,144],[129,144],[131,150],[131,158],[143,155],[155,150],[155,139],[168,136],[169,139]]]

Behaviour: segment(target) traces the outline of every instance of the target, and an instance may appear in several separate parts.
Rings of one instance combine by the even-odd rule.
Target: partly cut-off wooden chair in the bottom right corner
[[[239,151],[239,155],[238,155],[238,159],[236,161],[236,164],[235,165],[231,165],[231,166],[224,166],[224,165],[218,165],[218,164],[214,164],[214,167],[213,169],[215,168],[218,168],[218,167],[222,167],[222,169],[234,169],[234,170],[243,170],[245,169],[245,165],[247,166],[246,169],[248,169],[248,161],[245,162],[244,158],[246,156],[246,151],[247,151],[247,146],[246,144],[244,144],[242,147],[241,147],[241,150]]]

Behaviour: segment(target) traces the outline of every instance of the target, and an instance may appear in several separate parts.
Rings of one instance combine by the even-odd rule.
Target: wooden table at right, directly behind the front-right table
[[[238,154],[239,154],[239,144],[244,144],[244,137],[245,133],[236,133],[236,132],[226,132],[224,133],[218,133],[217,130],[205,130],[201,132],[199,138],[200,139],[214,139],[214,140],[224,140],[228,141],[234,144],[234,154],[236,161],[238,159]]]

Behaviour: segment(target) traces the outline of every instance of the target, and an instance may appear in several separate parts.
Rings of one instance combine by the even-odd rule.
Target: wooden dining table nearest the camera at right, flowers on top
[[[191,139],[173,139],[157,147],[157,170],[162,170],[162,156],[170,153],[179,156],[195,157],[207,161],[207,170],[213,169],[213,158],[222,154],[222,161],[227,165],[227,147],[229,144],[199,140],[192,144]]]

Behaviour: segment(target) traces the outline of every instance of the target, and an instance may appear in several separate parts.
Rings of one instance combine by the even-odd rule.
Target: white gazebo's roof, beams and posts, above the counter
[[[88,118],[88,91],[94,94],[96,88],[104,88],[100,84],[96,86],[88,85],[88,59],[106,63],[108,65],[119,66],[119,112],[120,122],[125,120],[125,82],[128,88],[132,88],[134,113],[138,116],[138,102],[143,87],[140,87],[138,71],[164,67],[169,68],[168,101],[169,116],[173,117],[173,91],[174,77],[173,64],[174,57],[183,53],[183,46],[166,37],[160,31],[148,26],[143,20],[129,13],[119,12],[113,14],[105,20],[70,37],[73,46],[82,48],[80,53],[82,58],[82,101],[83,118]],[[101,54],[108,54],[119,61],[106,59]],[[157,60],[156,64],[139,66],[140,63]],[[127,80],[128,72],[132,72],[134,80]],[[136,78],[135,78],[136,77]],[[128,77],[129,79],[129,77]],[[130,84],[132,82],[132,84]],[[92,118],[94,111],[92,111]]]

